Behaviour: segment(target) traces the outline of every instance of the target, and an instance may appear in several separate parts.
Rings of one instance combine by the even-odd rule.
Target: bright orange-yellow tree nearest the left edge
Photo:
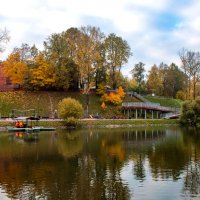
[[[27,65],[21,61],[20,54],[14,52],[2,63],[2,69],[4,75],[10,78],[12,84],[21,85],[24,81]]]

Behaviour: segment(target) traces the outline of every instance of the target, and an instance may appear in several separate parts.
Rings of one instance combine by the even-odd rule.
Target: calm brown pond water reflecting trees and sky
[[[200,133],[178,127],[1,133],[0,199],[200,199]]]

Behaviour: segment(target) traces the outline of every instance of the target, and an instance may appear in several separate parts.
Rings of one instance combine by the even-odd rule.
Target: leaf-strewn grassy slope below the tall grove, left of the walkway
[[[58,102],[66,97],[72,97],[85,105],[85,96],[79,92],[46,92],[46,91],[16,91],[0,92],[0,116],[11,116],[12,109],[27,110],[35,109],[36,114],[41,117],[53,117],[54,110],[57,109]],[[126,97],[124,101],[137,101],[133,97]],[[106,111],[101,109],[100,98],[91,94],[89,98],[89,113],[92,115],[100,114],[104,117],[116,117],[121,114],[120,107],[108,106]]]

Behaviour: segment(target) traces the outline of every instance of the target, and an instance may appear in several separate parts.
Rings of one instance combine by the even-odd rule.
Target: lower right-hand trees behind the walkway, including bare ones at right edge
[[[178,99],[196,99],[200,96],[200,53],[182,49],[181,66],[172,63],[153,65],[145,78],[145,64],[139,62],[131,70],[132,87],[139,93]],[[135,82],[134,82],[135,81]]]

